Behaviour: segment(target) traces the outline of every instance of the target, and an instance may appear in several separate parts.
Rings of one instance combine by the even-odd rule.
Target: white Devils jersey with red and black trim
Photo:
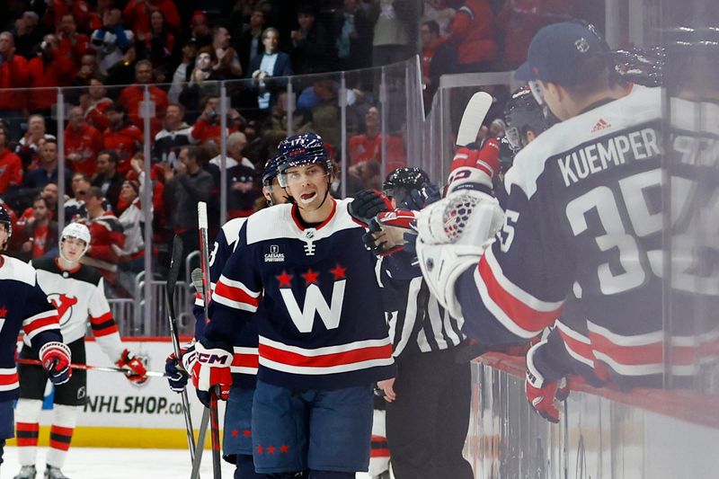
[[[62,271],[57,258],[39,258],[33,260],[32,265],[37,270],[40,288],[58,309],[65,342],[84,338],[89,319],[93,336],[102,350],[111,359],[119,359],[123,350],[120,333],[105,297],[101,274],[88,265]]]

